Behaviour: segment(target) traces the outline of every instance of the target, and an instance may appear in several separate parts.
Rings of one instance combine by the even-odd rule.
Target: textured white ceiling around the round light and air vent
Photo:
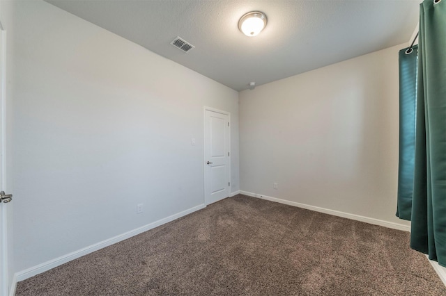
[[[234,90],[408,42],[421,0],[47,0]],[[238,31],[252,10],[268,17],[256,37]],[[195,46],[184,53],[170,42]]]

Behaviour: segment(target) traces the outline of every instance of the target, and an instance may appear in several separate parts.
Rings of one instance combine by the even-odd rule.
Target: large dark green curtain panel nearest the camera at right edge
[[[446,0],[420,4],[410,247],[446,267]]]

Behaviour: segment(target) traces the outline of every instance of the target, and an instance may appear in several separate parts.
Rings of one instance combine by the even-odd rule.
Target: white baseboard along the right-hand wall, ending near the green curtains
[[[379,226],[383,226],[383,227],[387,227],[387,228],[398,229],[398,230],[402,230],[402,231],[410,231],[409,226],[399,224],[399,223],[388,222],[388,221],[384,221],[384,220],[379,220],[379,219],[375,219],[375,218],[371,218],[371,217],[365,217],[365,216],[361,216],[361,215],[355,215],[355,214],[351,214],[351,213],[334,211],[334,210],[330,210],[329,208],[321,208],[318,206],[310,206],[308,204],[300,204],[298,202],[291,202],[286,199],[278,199],[276,197],[268,197],[266,195],[259,195],[257,193],[247,192],[247,191],[243,191],[243,190],[240,190],[240,194],[248,195],[250,197],[266,199],[271,202],[278,202],[280,204],[288,204],[289,206],[297,206],[298,208],[306,208],[307,210],[312,210],[312,211],[325,213],[325,214],[329,214],[329,215],[334,215],[334,216],[338,216],[338,217],[344,217],[347,219],[366,222],[369,224],[379,225]]]

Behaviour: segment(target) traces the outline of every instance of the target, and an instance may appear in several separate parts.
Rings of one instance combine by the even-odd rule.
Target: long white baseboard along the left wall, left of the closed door
[[[14,276],[15,283],[17,283],[17,281],[23,281],[24,279],[29,279],[30,277],[33,277],[36,274],[40,274],[40,273],[50,270],[52,268],[56,268],[57,266],[62,265],[63,263],[67,263],[68,261],[72,261],[72,260],[82,257],[86,254],[90,254],[92,252],[98,251],[98,249],[108,247],[109,245],[116,244],[116,242],[121,242],[121,240],[126,240],[128,238],[131,238],[132,236],[136,236],[139,233],[143,233],[144,231],[148,231],[148,230],[158,227],[162,224],[166,224],[167,222],[174,221],[174,220],[178,219],[179,217],[183,217],[183,216],[193,213],[195,211],[199,211],[199,210],[201,210],[201,208],[206,208],[206,205],[200,204],[199,206],[194,206],[193,208],[189,208],[189,209],[182,211],[180,213],[176,213],[169,217],[165,217],[161,220],[157,220],[150,224],[146,224],[142,227],[138,227],[137,229],[127,231],[127,232],[122,233],[118,236],[114,236],[113,238],[109,238],[107,240],[102,240],[102,242],[95,243],[94,245],[90,245],[89,247],[84,247],[84,248],[79,249],[75,252],[71,252],[70,254],[66,254],[66,255],[60,256],[59,258],[54,258],[54,259],[47,261],[45,263],[41,263],[39,265],[33,266],[32,268],[28,268],[26,270],[16,272],[15,276]],[[15,288],[14,288],[14,291],[15,291]]]

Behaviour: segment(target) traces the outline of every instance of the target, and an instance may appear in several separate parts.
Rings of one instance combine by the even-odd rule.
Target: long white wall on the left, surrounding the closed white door
[[[49,3],[9,5],[15,271],[203,204],[203,106],[231,113],[238,190],[236,91]]]

